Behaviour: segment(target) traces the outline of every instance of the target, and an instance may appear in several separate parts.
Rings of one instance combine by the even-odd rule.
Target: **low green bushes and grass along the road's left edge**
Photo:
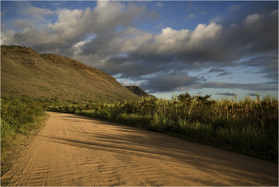
[[[16,149],[42,126],[45,117],[38,102],[1,99],[1,174],[9,169]]]

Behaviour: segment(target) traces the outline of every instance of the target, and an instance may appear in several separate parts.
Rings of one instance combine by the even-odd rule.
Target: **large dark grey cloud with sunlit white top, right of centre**
[[[212,65],[218,67],[234,67],[239,65],[236,61],[247,56],[254,56],[254,58],[258,60],[267,60],[270,56],[274,56],[274,51],[278,49],[278,40],[274,39],[278,38],[278,28],[274,26],[274,23],[278,21],[278,16],[274,16],[276,12],[278,11],[268,16],[247,16],[247,18],[243,20],[242,25],[238,26],[233,24],[227,28],[223,28],[221,25],[214,23],[209,25],[200,24],[194,31],[176,31],[171,28],[165,28],[157,35],[134,29],[133,34],[139,36],[139,39],[130,37],[131,31],[129,30],[131,29],[127,29],[121,33],[125,41],[121,41],[120,39],[118,41],[118,47],[114,49],[119,49],[118,53],[125,53],[125,61],[122,61],[122,63],[129,62],[129,65],[131,65],[130,71],[125,73],[121,71],[122,68],[119,69],[118,72],[116,72],[117,68],[113,70],[105,68],[104,70],[110,74],[122,73],[122,78],[133,79],[131,74],[138,74],[139,63],[142,66],[141,70],[143,70],[141,73],[145,72],[145,75],[147,75],[150,73],[149,65],[151,64],[153,66],[153,73],[156,73],[162,71],[163,67],[166,70],[196,70]],[[273,21],[265,21],[268,20],[267,17]],[[258,24],[263,26],[255,31],[255,27]],[[269,34],[263,35],[262,32]],[[127,36],[126,34],[129,35]],[[197,39],[196,35],[202,35],[203,37]],[[99,42],[95,41],[95,39],[94,42],[92,41],[92,46],[90,43],[84,47],[88,50],[93,49],[94,51],[95,47],[93,46],[98,46],[99,51],[104,51],[105,55],[108,54],[108,49],[116,46],[115,42],[111,42],[106,46],[102,44],[99,45]],[[130,46],[128,47],[127,44],[130,44]],[[109,54],[112,54],[112,52]],[[258,54],[265,55],[259,57]],[[119,59],[118,55],[117,58],[115,58],[116,61],[110,58],[109,61],[103,62],[102,65],[98,63],[98,67],[111,67],[113,63],[118,65],[117,59]],[[251,65],[255,67],[264,66],[265,69],[271,71],[270,73],[277,73],[278,68],[269,68],[269,66],[278,65],[278,59],[277,62],[275,62],[275,58],[273,59],[274,61],[269,61],[267,64],[261,61],[258,64],[254,63]],[[254,59],[251,59],[251,61],[252,60]],[[133,65],[135,71],[131,73],[131,71],[133,71]],[[249,62],[243,62],[242,65],[249,66],[250,64]],[[212,72],[213,70],[214,68],[212,68]],[[220,71],[223,69],[216,68],[215,72],[217,72],[216,70]]]

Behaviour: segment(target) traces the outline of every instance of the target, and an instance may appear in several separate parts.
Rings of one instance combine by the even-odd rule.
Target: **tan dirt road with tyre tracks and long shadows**
[[[75,114],[46,126],[1,181],[12,186],[278,186],[278,164]]]

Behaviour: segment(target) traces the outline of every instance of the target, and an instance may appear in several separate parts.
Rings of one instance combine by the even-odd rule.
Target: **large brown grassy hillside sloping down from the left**
[[[22,95],[69,103],[139,99],[115,78],[79,61],[40,55],[28,47],[1,46],[1,96]]]

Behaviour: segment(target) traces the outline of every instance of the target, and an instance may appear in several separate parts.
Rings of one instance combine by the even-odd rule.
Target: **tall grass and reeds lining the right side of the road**
[[[44,105],[47,111],[81,114],[177,136],[278,163],[278,99],[250,96],[211,100],[188,93],[171,100]]]

